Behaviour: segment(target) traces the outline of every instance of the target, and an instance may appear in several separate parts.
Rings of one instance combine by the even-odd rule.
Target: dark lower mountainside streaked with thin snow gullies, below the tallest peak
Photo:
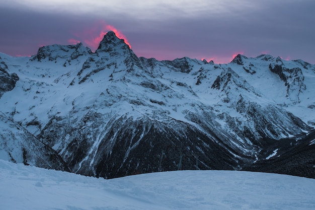
[[[73,135],[70,136],[72,141],[64,152],[61,151],[69,167],[77,173],[114,178],[178,169],[237,168],[238,160],[229,151],[187,123],[174,119],[162,123],[147,117],[133,119],[125,115],[110,121],[100,131],[103,125],[97,122],[103,116],[94,113],[93,118],[90,117],[84,118],[93,119],[90,122],[94,128],[67,133]],[[57,136],[51,136],[49,132],[42,133],[41,137],[45,141],[52,137],[56,139],[64,130],[67,128],[53,134]],[[95,142],[88,138],[99,135],[99,132],[101,135],[95,136]],[[47,143],[53,145],[52,142]]]

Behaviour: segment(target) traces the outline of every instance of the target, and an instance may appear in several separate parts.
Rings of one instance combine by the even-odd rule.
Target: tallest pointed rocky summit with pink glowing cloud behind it
[[[124,39],[116,36],[115,32],[109,31],[104,35],[96,52],[112,52],[116,49],[130,50]]]

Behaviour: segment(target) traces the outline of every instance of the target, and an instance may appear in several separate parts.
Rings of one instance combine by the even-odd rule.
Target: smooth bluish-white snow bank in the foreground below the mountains
[[[315,179],[173,171],[97,179],[0,160],[0,209],[315,209]]]

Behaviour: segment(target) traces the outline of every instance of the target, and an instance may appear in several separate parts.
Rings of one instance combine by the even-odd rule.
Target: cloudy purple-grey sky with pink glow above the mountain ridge
[[[314,0],[1,0],[0,52],[83,42],[115,30],[138,56],[231,61],[262,53],[315,64]]]

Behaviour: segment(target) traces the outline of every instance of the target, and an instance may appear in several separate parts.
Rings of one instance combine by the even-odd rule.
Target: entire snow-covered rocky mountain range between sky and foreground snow
[[[108,32],[96,52],[81,43],[52,45],[31,58],[0,54],[0,62],[0,126],[8,130],[2,159],[13,156],[7,145],[24,142],[15,134],[21,127],[21,136],[31,134],[83,175],[271,171],[267,162],[276,167],[308,151],[299,165],[306,172],[291,165],[277,172],[315,177],[315,65],[302,60],[158,61],[137,57]],[[7,119],[15,125],[8,128]]]

